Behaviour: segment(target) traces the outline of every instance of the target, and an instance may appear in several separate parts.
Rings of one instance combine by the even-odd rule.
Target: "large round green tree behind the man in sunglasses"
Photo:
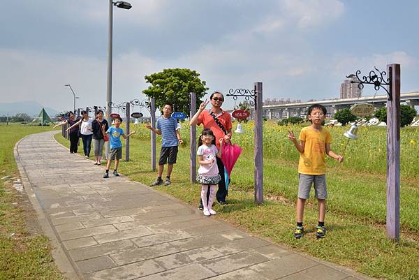
[[[156,108],[162,108],[164,103],[172,103],[175,112],[185,112],[189,115],[191,98],[189,93],[196,93],[197,108],[200,98],[208,90],[206,82],[200,80],[196,71],[184,68],[163,69],[162,72],[145,76],[147,83],[152,84],[142,92],[148,97],[154,97]]]

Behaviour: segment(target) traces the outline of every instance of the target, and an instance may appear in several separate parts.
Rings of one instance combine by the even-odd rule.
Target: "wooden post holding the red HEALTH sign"
[[[263,202],[263,92],[262,83],[255,82],[255,202]]]

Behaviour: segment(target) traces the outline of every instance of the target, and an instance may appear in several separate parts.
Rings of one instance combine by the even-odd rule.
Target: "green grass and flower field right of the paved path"
[[[234,125],[235,127],[235,125]],[[253,124],[245,133],[234,134],[233,142],[244,148],[232,173],[228,201],[216,205],[217,216],[250,233],[269,237],[274,242],[332,263],[351,267],[382,279],[419,279],[419,131],[402,129],[401,241],[390,242],[385,236],[385,128],[360,128],[359,140],[346,149],[346,161],[327,160],[328,235],[316,240],[317,204],[308,200],[304,212],[307,234],[300,240],[292,236],[295,226],[298,153],[286,138],[286,131],[299,133],[299,126],[264,125],[264,197],[263,205],[253,202]],[[144,184],[156,179],[151,170],[149,131],[131,126],[138,133],[131,139],[131,161],[121,162],[122,174]],[[198,128],[200,131],[202,128]],[[332,149],[340,153],[346,144],[342,134],[348,127],[332,128]],[[182,128],[186,145],[179,148],[178,161],[170,186],[156,189],[198,206],[200,186],[189,182],[189,125]],[[68,141],[56,135],[68,146]],[[157,138],[158,141],[160,138]],[[158,142],[159,145],[159,142]],[[82,147],[80,147],[82,149]],[[157,147],[159,153],[159,147]],[[124,156],[123,156],[124,159]],[[163,174],[165,175],[165,174]]]

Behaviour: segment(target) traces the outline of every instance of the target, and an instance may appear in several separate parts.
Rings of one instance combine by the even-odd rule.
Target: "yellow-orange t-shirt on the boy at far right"
[[[298,139],[304,141],[304,152],[300,154],[298,172],[307,175],[325,174],[326,144],[332,142],[330,132],[324,127],[321,131],[315,131],[308,126],[302,128]]]

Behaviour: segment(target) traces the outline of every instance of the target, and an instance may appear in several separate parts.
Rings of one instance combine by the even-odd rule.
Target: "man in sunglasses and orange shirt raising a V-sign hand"
[[[212,108],[205,110],[207,104],[211,101]],[[216,147],[219,149],[219,139],[224,139],[226,144],[230,142],[231,129],[231,116],[228,112],[221,109],[221,105],[224,101],[224,96],[219,91],[214,91],[210,96],[210,101],[204,101],[200,104],[198,112],[191,118],[191,125],[203,124],[204,128],[210,128],[215,135]],[[226,189],[226,179],[224,178],[224,165],[221,159],[216,158],[216,165],[219,169],[219,175],[221,180],[218,184],[218,191],[216,191],[216,200],[221,205],[226,205],[226,197],[228,191]],[[203,202],[200,202],[198,209],[204,209]]]

